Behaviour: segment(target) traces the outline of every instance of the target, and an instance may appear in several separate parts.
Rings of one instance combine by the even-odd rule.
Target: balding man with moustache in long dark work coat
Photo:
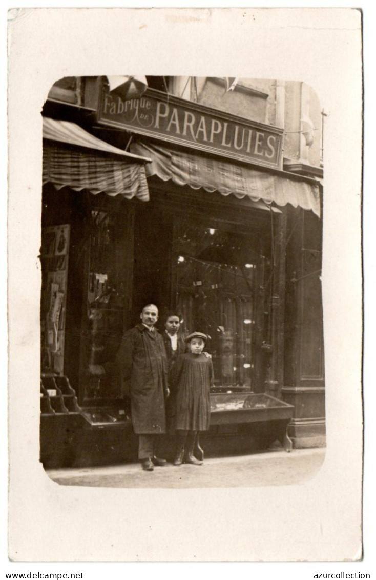
[[[144,306],[140,318],[140,324],[123,335],[115,365],[108,362],[103,367],[107,372],[118,372],[122,392],[130,396],[138,459],[144,470],[152,471],[154,465],[166,464],[156,456],[156,440],[166,433],[167,357],[162,336],[155,328],[158,308]]]

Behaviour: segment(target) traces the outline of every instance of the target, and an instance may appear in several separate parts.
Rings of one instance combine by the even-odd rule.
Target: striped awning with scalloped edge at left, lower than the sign
[[[70,121],[44,117],[43,139],[43,184],[149,200],[149,158],[122,151]]]

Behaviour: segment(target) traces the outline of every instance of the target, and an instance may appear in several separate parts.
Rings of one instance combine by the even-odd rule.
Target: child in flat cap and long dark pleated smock
[[[177,450],[173,465],[185,463],[202,465],[203,452],[198,446],[201,459],[194,456],[196,436],[199,431],[209,430],[209,391],[213,386],[213,364],[203,354],[209,337],[202,332],[192,332],[185,338],[188,352],[180,354],[171,367],[171,386],[176,390]],[[185,452],[185,454],[184,454]]]

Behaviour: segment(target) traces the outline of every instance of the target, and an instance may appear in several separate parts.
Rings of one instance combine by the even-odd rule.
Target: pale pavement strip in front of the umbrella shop
[[[203,465],[155,467],[145,472],[140,463],[101,467],[48,469],[60,485],[113,488],[203,488],[303,485],[316,476],[324,448],[268,449],[252,455],[205,459]]]

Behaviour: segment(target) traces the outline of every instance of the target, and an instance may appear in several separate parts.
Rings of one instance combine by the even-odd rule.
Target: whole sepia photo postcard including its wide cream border
[[[362,13],[8,26],[10,559],[362,559]]]

